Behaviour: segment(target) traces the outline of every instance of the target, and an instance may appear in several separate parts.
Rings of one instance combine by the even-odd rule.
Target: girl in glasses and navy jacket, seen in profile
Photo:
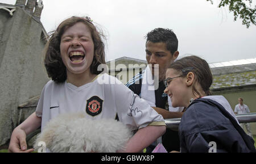
[[[181,153],[256,152],[253,138],[240,127],[228,100],[211,95],[208,63],[188,56],[166,71],[164,92],[173,107],[187,107],[179,124]]]

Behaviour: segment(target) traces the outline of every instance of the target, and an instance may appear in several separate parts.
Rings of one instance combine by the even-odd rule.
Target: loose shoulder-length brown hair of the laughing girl
[[[60,55],[60,39],[67,28],[73,26],[76,23],[84,23],[91,32],[93,44],[94,44],[94,55],[93,61],[90,65],[90,72],[92,74],[100,74],[101,71],[98,71],[98,65],[105,64],[105,45],[101,40],[101,37],[105,39],[105,36],[102,32],[98,32],[94,24],[91,22],[88,17],[82,18],[77,16],[72,16],[61,22],[57,27],[56,31],[52,31],[49,35],[49,40],[46,44],[45,53],[44,53],[44,66],[48,77],[52,78],[56,82],[64,82],[67,79],[67,70]]]

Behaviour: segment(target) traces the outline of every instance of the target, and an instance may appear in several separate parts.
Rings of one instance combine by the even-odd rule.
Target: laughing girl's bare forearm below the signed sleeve
[[[166,132],[166,126],[147,126],[141,128],[134,134],[127,143],[126,150],[123,153],[141,152],[152,142],[156,141]]]

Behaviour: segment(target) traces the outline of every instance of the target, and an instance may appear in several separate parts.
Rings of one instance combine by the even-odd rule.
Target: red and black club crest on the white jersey
[[[90,116],[97,116],[102,111],[103,100],[98,96],[92,96],[87,100],[86,113]]]

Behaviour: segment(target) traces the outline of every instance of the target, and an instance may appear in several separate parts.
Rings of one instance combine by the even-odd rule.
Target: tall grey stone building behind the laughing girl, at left
[[[23,120],[19,104],[40,95],[49,80],[42,52],[47,33],[40,22],[42,1],[0,3],[0,146]]]

